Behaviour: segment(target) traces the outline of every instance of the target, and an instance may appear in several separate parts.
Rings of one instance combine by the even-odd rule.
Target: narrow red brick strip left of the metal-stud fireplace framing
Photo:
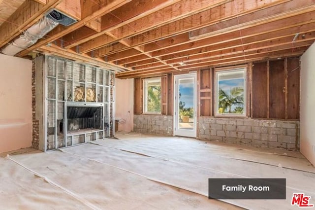
[[[36,119],[36,99],[35,99],[35,60],[32,61],[32,147],[38,149],[39,145],[39,120]]]

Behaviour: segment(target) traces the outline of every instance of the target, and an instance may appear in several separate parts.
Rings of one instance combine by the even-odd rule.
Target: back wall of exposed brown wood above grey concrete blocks
[[[246,67],[247,108],[242,118],[214,116],[215,70],[197,71],[197,139],[299,150],[299,57],[254,62]],[[173,76],[162,76],[163,87],[168,88],[167,112],[162,109],[158,120],[165,120],[167,115],[167,122],[173,121]],[[173,128],[158,122],[157,116],[142,114],[142,79],[135,78],[134,83],[134,131],[173,135]],[[165,91],[162,94],[165,105]]]

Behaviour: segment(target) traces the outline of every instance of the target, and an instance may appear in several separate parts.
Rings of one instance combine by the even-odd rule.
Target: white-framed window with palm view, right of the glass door
[[[216,70],[216,115],[246,115],[246,68]]]

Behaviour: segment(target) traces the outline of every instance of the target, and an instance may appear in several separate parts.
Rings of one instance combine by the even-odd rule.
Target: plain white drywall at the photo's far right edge
[[[301,57],[301,153],[315,166],[315,43]]]

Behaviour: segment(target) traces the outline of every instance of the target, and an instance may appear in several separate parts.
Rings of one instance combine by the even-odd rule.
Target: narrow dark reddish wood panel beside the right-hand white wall
[[[300,118],[300,58],[287,59],[287,118]]]

